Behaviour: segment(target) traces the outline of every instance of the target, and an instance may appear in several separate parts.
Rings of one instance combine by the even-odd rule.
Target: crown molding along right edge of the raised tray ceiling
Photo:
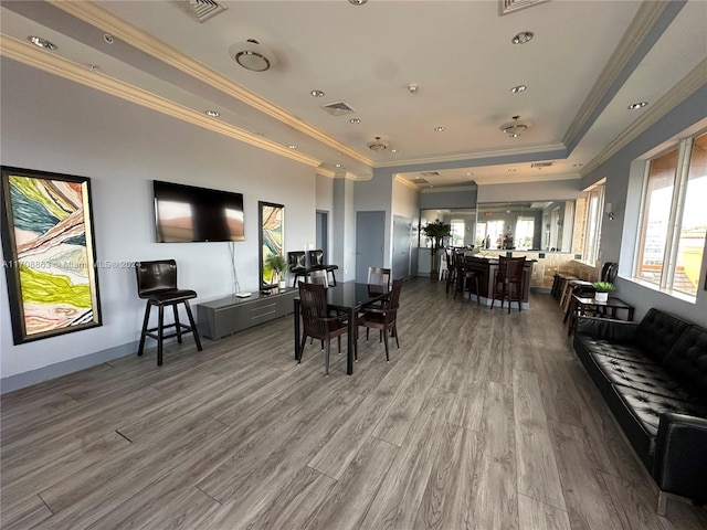
[[[594,86],[589,92],[587,99],[580,107],[577,116],[570,124],[562,144],[571,146],[581,130],[597,112],[602,98],[606,95],[611,86],[615,83],[621,72],[633,57],[636,50],[653,29],[657,20],[663,14],[669,2],[643,2],[626,29],[623,38],[619,42],[616,50],[609,59],[606,65],[597,78]]]

